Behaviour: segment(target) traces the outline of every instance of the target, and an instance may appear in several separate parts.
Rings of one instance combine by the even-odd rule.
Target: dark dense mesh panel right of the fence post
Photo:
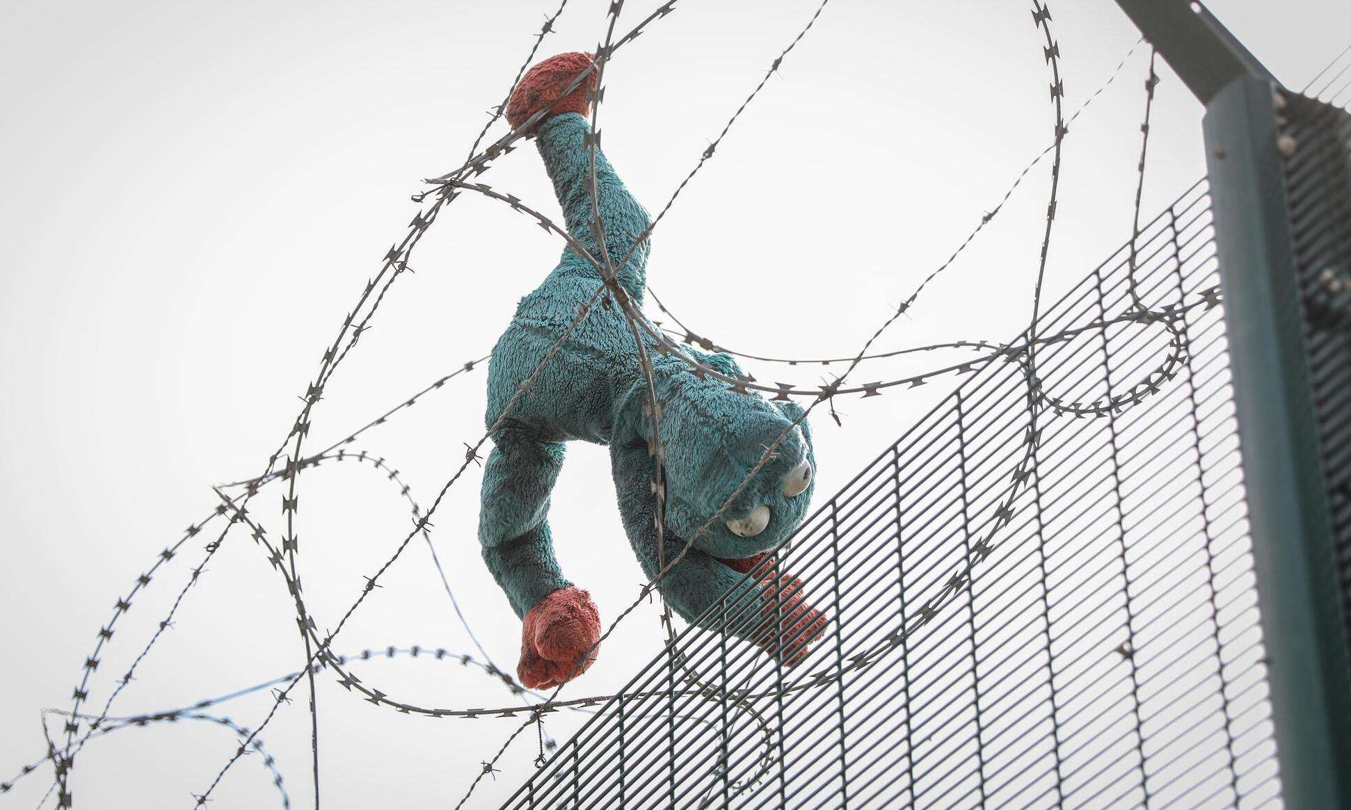
[[[1300,96],[1283,112],[1309,386],[1351,648],[1351,115]]]

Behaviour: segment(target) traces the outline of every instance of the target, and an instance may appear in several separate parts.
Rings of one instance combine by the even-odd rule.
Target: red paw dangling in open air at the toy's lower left
[[[561,587],[535,603],[521,621],[516,675],[530,688],[551,688],[596,662],[600,613],[590,594]],[[585,656],[585,660],[582,660]]]

